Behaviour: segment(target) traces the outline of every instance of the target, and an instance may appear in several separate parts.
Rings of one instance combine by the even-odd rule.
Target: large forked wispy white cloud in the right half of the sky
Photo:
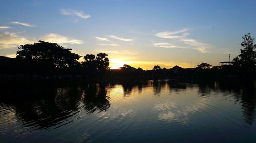
[[[188,28],[184,28],[182,30],[173,31],[173,32],[168,32],[168,31],[159,32],[159,33],[156,33],[155,36],[160,37],[160,38],[165,38],[165,39],[178,40],[178,41],[182,42],[183,44],[186,44],[186,45],[192,47],[193,49],[198,50],[199,52],[211,53],[210,51],[208,51],[208,49],[210,49],[210,47],[211,47],[209,44],[201,43],[195,39],[187,38],[187,36],[190,35],[190,33],[187,32],[188,30],[189,30]],[[163,47],[163,48],[185,48],[185,46],[174,46],[174,45],[170,45],[167,42],[153,43],[153,46]]]

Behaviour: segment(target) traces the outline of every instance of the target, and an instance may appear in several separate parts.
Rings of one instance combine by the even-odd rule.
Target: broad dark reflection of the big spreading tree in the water
[[[44,129],[66,124],[75,115],[82,91],[77,87],[55,88],[54,85],[12,87],[4,102],[15,106],[17,120],[24,126]],[[18,92],[16,92],[18,91]],[[20,98],[23,97],[23,98]]]

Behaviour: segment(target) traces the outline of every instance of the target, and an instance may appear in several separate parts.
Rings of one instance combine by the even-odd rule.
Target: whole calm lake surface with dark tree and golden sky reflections
[[[254,82],[4,86],[1,142],[256,142]]]

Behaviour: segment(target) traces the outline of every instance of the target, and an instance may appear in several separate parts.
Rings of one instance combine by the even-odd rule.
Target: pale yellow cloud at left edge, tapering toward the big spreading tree
[[[27,39],[22,36],[18,36],[17,33],[0,33],[0,48],[15,48],[19,45],[34,43],[35,40]]]

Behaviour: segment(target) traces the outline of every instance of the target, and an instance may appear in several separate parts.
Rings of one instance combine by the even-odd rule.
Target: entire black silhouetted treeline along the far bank
[[[143,70],[123,65],[118,70],[110,70],[108,54],[98,53],[80,56],[72,49],[56,43],[39,41],[18,47],[16,58],[0,56],[0,74],[41,75],[42,78],[58,78],[58,75],[79,76],[86,80],[108,79],[168,79],[168,78],[218,78],[218,77],[253,77],[255,78],[256,45],[250,34],[243,37],[241,54],[228,65],[212,66],[201,63],[196,68],[183,69],[175,66],[171,69],[159,65],[152,70]],[[78,60],[83,58],[83,62]],[[1,78],[1,77],[0,77]],[[7,78],[7,77],[4,77]]]

